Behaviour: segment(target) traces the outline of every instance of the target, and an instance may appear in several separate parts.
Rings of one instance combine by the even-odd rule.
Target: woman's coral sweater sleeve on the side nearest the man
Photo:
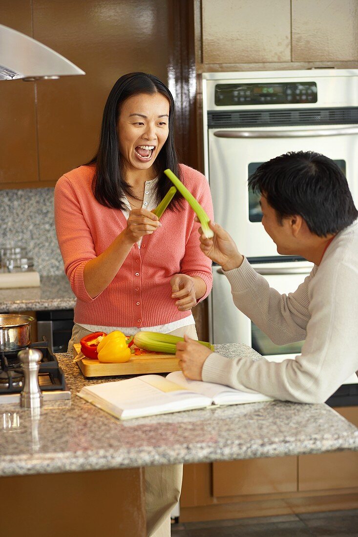
[[[188,170],[187,166],[181,167],[181,170]],[[213,207],[211,200],[211,193],[209,188],[209,183],[205,177],[196,170],[190,169],[190,172],[195,173],[200,181],[199,193],[196,195],[199,204],[203,207],[210,220],[213,219]],[[194,215],[195,216],[195,215]],[[198,300],[201,302],[204,300],[207,295],[209,295],[212,288],[212,262],[209,257],[206,257],[200,248],[199,233],[198,229],[200,227],[199,222],[192,219],[190,224],[191,228],[189,230],[189,237],[187,244],[185,245],[185,254],[181,262],[181,273],[188,274],[189,276],[198,276],[202,278],[206,284],[205,294]]]

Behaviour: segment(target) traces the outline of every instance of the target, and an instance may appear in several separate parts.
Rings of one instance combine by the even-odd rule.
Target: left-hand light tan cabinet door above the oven
[[[205,0],[203,63],[290,62],[290,10],[290,0]]]

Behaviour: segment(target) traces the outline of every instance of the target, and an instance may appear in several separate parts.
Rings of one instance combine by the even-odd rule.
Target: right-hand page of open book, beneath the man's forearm
[[[203,394],[210,397],[214,404],[238,404],[238,403],[253,403],[259,401],[272,401],[268,397],[257,392],[247,392],[235,390],[230,386],[223,384],[215,384],[214,382],[203,382],[201,380],[187,379],[182,371],[174,371],[166,376],[166,379],[176,384],[180,384],[185,389],[196,391],[198,394]]]

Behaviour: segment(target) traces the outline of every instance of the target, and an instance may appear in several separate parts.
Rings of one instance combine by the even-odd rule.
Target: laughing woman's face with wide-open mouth
[[[121,106],[117,132],[126,170],[148,170],[169,134],[168,99],[161,93],[129,97]]]

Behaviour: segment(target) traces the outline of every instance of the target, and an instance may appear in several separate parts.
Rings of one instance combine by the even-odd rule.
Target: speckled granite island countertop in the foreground
[[[217,345],[228,357],[240,344]],[[48,403],[40,416],[10,405],[19,427],[0,422],[0,475],[59,473],[252,459],[358,449],[358,429],[325,404],[252,403],[138,418],[121,423],[75,394],[87,381],[69,354],[58,354],[70,405]],[[113,379],[108,379],[113,380]]]

